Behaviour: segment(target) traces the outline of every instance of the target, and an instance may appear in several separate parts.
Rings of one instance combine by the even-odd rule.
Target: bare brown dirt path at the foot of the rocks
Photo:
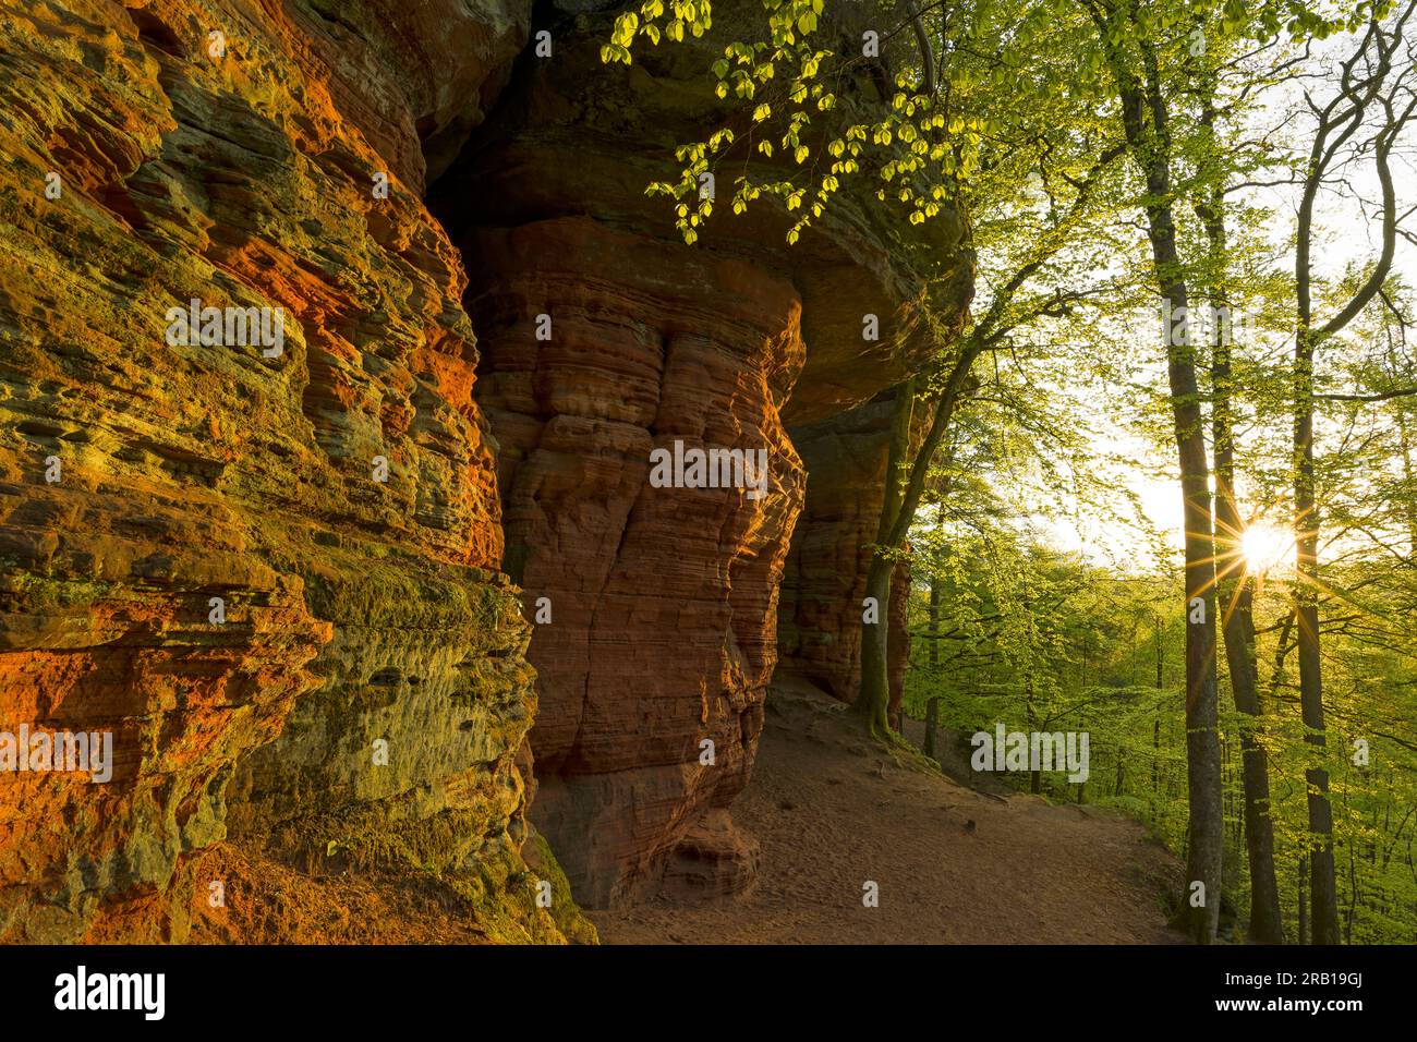
[[[774,689],[738,827],[752,890],[591,913],[608,944],[1175,944],[1162,897],[1180,866],[1139,824],[1037,797],[999,800],[896,763],[843,706]],[[863,883],[880,885],[864,907]]]

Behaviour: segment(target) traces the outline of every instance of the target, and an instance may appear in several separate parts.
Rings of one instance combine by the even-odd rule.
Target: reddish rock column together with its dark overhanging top
[[[740,7],[716,4],[716,24],[757,10]],[[767,206],[686,247],[646,201],[713,115],[711,81],[690,77],[720,35],[646,50],[625,71],[599,61],[606,18],[548,24],[551,57],[521,58],[431,203],[469,272],[506,567],[541,612],[531,817],[582,903],[666,883],[727,893],[752,873],[727,807],[751,768],[789,540],[816,481],[785,425],[856,405],[938,343],[915,325],[924,288],[896,259],[898,230],[850,196],[794,248]],[[958,258],[958,223],[932,234]],[[961,261],[945,289],[956,319],[968,275]],[[879,342],[863,339],[867,313]],[[765,451],[762,495],[656,486],[652,452],[676,444]],[[879,505],[883,465],[840,476],[876,482],[857,491]],[[863,560],[826,563],[850,568],[842,594]],[[830,632],[859,604],[839,600]]]

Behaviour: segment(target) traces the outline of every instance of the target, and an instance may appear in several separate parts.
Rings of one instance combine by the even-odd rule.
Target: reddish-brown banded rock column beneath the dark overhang
[[[461,245],[509,570],[540,615],[536,819],[577,895],[609,903],[747,781],[805,486],[778,417],[801,306],[750,264],[585,218]],[[655,488],[676,442],[764,452],[762,488]],[[718,831],[711,886],[731,889],[751,851]]]

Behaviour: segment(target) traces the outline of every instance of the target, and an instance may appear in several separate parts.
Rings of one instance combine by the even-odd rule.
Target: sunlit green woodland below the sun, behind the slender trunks
[[[1183,712],[1185,620],[1179,576],[1125,574],[1058,554],[1002,530],[952,530],[915,557],[911,671],[905,710],[924,719],[939,698],[939,723],[965,736],[1007,730],[1087,732],[1091,775],[1068,784],[1044,774],[1054,801],[1117,807],[1173,849],[1186,834]],[[928,584],[939,610],[930,615]],[[1417,937],[1417,639],[1400,618],[1417,593],[1406,580],[1363,625],[1328,629],[1329,747],[1340,926],[1350,943]],[[1308,844],[1304,770],[1314,750],[1298,719],[1292,638],[1274,669],[1289,603],[1278,584],[1261,598],[1260,662],[1264,746],[1270,756],[1275,861],[1285,930],[1297,941],[1298,865]],[[1399,614],[1401,612],[1401,614]],[[1374,646],[1380,628],[1382,645]],[[931,652],[934,645],[934,654]],[[1158,683],[1159,673],[1159,683]],[[1243,936],[1248,907],[1240,732],[1247,719],[1221,713],[1229,936]],[[1353,763],[1367,743],[1369,766]],[[1007,775],[1023,791],[1027,774]]]

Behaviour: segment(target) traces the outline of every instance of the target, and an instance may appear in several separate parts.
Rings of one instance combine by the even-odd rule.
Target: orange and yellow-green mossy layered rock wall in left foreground
[[[262,859],[563,936],[521,856],[536,698],[465,278],[421,201],[526,14],[0,10],[0,732],[113,741],[106,784],[0,773],[0,937],[299,940]],[[174,339],[191,301],[282,333]]]

